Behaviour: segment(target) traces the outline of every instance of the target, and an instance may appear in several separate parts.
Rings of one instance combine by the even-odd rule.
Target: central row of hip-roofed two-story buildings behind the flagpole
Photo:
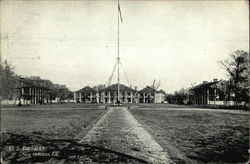
[[[119,84],[119,100],[121,103],[163,103],[163,90],[155,90],[149,86],[139,92],[123,84]],[[113,84],[99,91],[87,86],[74,93],[75,103],[110,103],[118,101],[118,84]]]

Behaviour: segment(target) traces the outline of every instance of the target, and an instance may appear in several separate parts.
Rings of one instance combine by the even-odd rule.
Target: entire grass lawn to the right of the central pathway
[[[169,105],[139,105],[130,111],[177,163],[248,161],[248,112]]]

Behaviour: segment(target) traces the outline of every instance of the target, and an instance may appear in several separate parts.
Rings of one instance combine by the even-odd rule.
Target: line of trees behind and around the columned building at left
[[[51,100],[59,98],[60,100],[72,99],[73,92],[65,85],[55,84],[50,80],[41,79],[39,76],[22,77],[17,75],[14,67],[6,60],[0,63],[0,82],[1,98],[12,100],[15,97],[14,90],[20,86],[21,81],[27,82],[32,86],[43,87],[49,90]]]

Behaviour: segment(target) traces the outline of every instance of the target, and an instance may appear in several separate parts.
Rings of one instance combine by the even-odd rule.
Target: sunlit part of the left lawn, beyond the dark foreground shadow
[[[3,133],[73,139],[105,109],[98,104],[52,104],[1,111]]]

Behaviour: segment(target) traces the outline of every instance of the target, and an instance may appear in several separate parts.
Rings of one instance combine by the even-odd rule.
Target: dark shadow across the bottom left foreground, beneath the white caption
[[[2,135],[1,154],[6,163],[147,163],[109,149],[71,139],[44,139],[39,135]]]

